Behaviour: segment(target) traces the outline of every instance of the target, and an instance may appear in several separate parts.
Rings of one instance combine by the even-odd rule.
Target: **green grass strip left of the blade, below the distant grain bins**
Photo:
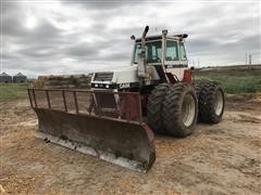
[[[27,99],[27,83],[0,83],[0,102]]]

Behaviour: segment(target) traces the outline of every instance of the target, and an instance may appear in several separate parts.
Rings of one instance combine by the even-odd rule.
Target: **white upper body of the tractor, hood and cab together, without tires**
[[[140,91],[164,82],[191,81],[184,46],[188,36],[167,35],[167,30],[162,30],[162,35],[147,37],[148,30],[147,26],[141,38],[130,37],[134,40],[130,66],[94,73],[92,90]]]

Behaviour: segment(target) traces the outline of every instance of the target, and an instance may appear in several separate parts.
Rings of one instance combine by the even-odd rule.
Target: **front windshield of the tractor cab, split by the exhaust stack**
[[[135,46],[134,64],[138,63],[138,54],[140,53],[141,43]],[[160,63],[161,62],[161,41],[152,41],[146,43],[146,60],[147,63]]]

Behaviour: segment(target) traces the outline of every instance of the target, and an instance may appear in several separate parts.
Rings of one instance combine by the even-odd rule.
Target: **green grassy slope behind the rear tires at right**
[[[227,93],[261,92],[261,68],[195,70],[195,80],[215,80]]]

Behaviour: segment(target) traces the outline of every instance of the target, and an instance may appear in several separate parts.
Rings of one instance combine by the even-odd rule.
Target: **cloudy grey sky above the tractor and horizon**
[[[190,66],[261,63],[259,0],[0,0],[0,72],[88,74],[130,64],[132,35],[188,34]]]

